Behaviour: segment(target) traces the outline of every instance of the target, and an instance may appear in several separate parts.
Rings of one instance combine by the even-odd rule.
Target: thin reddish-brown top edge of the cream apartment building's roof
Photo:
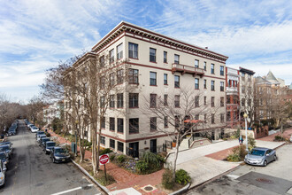
[[[198,49],[198,50],[201,50],[201,51],[204,51],[204,52],[207,52],[207,53],[211,53],[211,54],[218,55],[220,58],[225,58],[225,61],[226,61],[227,58],[228,58],[227,56],[222,55],[222,54],[220,54],[220,53],[218,53],[218,52],[210,51],[210,50],[206,50],[206,49],[204,49],[203,47],[200,47],[200,46],[197,46],[197,45],[194,45],[194,44],[190,44],[190,43],[183,42],[183,41],[178,40],[178,39],[175,39],[175,38],[173,38],[173,37],[171,37],[171,36],[166,36],[166,35],[159,34],[159,33],[157,33],[157,32],[151,31],[151,30],[146,29],[146,28],[144,28],[144,27],[136,26],[136,25],[131,24],[131,23],[126,22],[126,21],[121,21],[121,22],[119,22],[119,24],[118,24],[116,27],[114,27],[114,28],[113,28],[108,34],[104,35],[104,37],[102,38],[102,40],[100,40],[98,43],[96,43],[95,46],[93,46],[91,50],[92,50],[92,51],[95,51],[97,45],[103,43],[103,42],[106,40],[106,38],[108,38],[110,35],[112,35],[115,31],[117,31],[117,30],[118,30],[120,27],[122,27],[122,26],[125,26],[125,27],[134,27],[134,28],[136,28],[136,29],[143,30],[143,31],[148,32],[148,33],[151,33],[151,34],[153,34],[153,35],[162,36],[162,37],[164,37],[164,38],[166,38],[166,39],[169,39],[169,40],[171,40],[171,41],[173,41],[173,42],[181,43],[181,44],[185,44],[185,45],[188,45],[188,46],[193,47],[193,48],[195,48],[195,49]]]

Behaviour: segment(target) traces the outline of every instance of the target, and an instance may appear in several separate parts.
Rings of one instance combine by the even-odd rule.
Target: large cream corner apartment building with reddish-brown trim
[[[219,137],[226,126],[226,56],[124,21],[82,60],[106,54],[111,61],[127,59],[130,68],[128,82],[119,85],[124,92],[112,96],[111,109],[104,117],[102,134],[98,135],[104,147],[134,157],[142,150],[160,152],[166,140],[173,140],[165,132],[156,131],[156,127],[174,127],[168,127],[154,115],[143,114],[145,98],[168,97],[180,109],[181,90],[194,91],[198,106],[208,105],[209,110],[218,107],[216,113],[198,112],[192,118],[204,121],[198,131],[208,128],[214,139]],[[118,82],[119,73],[113,75]]]

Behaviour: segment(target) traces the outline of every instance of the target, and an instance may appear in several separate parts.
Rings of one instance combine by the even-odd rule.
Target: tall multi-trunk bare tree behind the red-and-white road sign
[[[74,79],[73,79],[74,78]],[[99,163],[103,119],[107,109],[118,93],[125,91],[127,60],[114,62],[107,55],[88,52],[65,72],[67,104],[81,104],[81,114],[86,116],[92,142],[92,166],[96,175]],[[74,94],[70,94],[75,91]],[[81,102],[81,103],[79,103]],[[77,109],[75,109],[77,111]],[[77,117],[77,112],[71,117]],[[83,118],[84,120],[84,118]],[[97,136],[98,135],[98,136]],[[97,139],[98,137],[98,139]]]

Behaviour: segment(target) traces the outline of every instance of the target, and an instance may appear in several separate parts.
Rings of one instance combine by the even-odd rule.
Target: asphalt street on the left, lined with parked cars
[[[18,134],[10,136],[13,156],[0,194],[99,194],[85,175],[72,162],[55,164],[36,144],[24,121],[19,121]]]

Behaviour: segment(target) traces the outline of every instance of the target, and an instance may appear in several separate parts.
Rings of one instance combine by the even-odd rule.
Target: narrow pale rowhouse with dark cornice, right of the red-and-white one
[[[243,121],[243,114],[246,113],[248,115],[247,120],[249,122],[254,119],[254,78],[252,70],[239,67],[240,74],[240,115],[239,120]]]

